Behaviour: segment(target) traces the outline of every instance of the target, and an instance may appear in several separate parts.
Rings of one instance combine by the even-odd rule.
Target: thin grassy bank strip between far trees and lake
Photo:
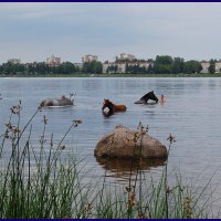
[[[17,75],[0,75],[1,77],[221,77],[221,73],[214,74],[17,74]]]

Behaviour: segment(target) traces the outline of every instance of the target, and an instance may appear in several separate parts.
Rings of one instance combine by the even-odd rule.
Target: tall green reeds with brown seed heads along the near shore
[[[169,185],[168,161],[158,180],[143,179],[137,167],[135,180],[129,179],[125,191],[109,187],[105,181],[83,183],[81,168],[73,158],[62,158],[65,138],[82,124],[73,120],[61,141],[53,144],[53,134],[45,136],[48,118],[43,116],[43,131],[39,148],[31,145],[32,120],[38,108],[21,128],[21,103],[11,107],[9,123],[1,135],[0,159],[0,218],[208,218],[211,194],[208,185],[196,191],[182,183]],[[15,120],[14,120],[15,119]],[[140,136],[148,133],[141,124]],[[168,152],[175,137],[168,137]],[[141,141],[139,148],[141,151]],[[6,154],[8,152],[8,157]],[[133,159],[131,159],[133,166]]]

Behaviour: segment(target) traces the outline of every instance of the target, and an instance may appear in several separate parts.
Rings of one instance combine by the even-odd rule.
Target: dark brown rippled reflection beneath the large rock
[[[166,159],[116,159],[96,157],[97,162],[110,177],[129,178],[136,175],[137,169],[150,170],[152,167],[164,166]]]

